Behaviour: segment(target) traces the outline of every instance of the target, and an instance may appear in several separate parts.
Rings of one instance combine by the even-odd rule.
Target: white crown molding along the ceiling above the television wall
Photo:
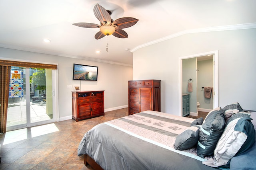
[[[67,54],[55,53],[55,52],[50,52],[50,51],[42,51],[39,49],[24,48],[21,46],[0,44],[0,47],[6,48],[6,49],[15,49],[15,50],[20,50],[20,51],[28,51],[28,52],[33,52],[33,53],[41,53],[41,54],[47,54],[47,55],[55,55],[55,56],[60,56],[60,57],[69,57],[69,58],[74,58],[74,59],[82,59],[82,60],[88,60],[88,61],[96,61],[96,62],[100,62],[100,63],[116,64],[116,65],[121,65],[121,66],[132,67],[132,64],[125,64],[125,63],[118,63],[118,62],[101,60],[101,59],[94,59],[94,58],[90,58],[90,57],[67,55]]]

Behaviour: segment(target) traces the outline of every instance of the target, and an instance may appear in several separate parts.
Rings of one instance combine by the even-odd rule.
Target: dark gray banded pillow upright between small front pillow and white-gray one
[[[224,131],[225,115],[222,109],[214,110],[207,115],[202,127],[199,130],[199,140],[197,144],[197,155],[204,158],[211,156],[220,136]]]

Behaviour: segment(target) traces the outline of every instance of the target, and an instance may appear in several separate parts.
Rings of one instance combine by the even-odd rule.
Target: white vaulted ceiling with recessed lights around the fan
[[[99,24],[93,13],[97,3],[112,11],[113,20],[139,20],[124,29],[127,39],[108,37],[108,52],[107,38],[94,38],[99,29],[72,25]],[[0,0],[0,47],[132,65],[130,50],[152,41],[182,31],[256,23],[255,7],[256,0]]]

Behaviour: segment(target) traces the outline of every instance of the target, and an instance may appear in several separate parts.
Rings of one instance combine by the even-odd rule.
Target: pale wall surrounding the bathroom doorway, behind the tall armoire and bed
[[[191,33],[133,53],[133,78],[161,80],[161,111],[178,113],[178,58],[218,50],[219,106],[256,110],[256,29]]]

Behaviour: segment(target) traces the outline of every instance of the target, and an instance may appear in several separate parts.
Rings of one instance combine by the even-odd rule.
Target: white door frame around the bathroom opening
[[[179,90],[179,115],[182,116],[182,60],[195,57],[202,57],[205,55],[213,55],[213,108],[219,106],[219,90],[218,90],[218,50],[208,51],[205,53],[198,53],[194,55],[188,55],[179,57],[178,59],[178,90]]]

